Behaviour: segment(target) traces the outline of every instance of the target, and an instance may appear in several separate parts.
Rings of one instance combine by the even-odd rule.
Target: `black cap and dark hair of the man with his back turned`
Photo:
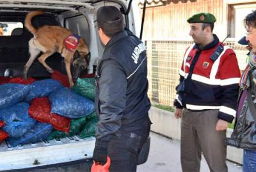
[[[124,31],[124,17],[115,6],[102,6],[97,11],[98,27],[108,37]]]

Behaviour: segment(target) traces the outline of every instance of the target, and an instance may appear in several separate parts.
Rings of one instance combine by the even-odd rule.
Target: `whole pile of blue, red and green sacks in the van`
[[[12,147],[79,134],[94,136],[95,82],[79,78],[72,90],[58,71],[51,79],[0,78],[0,143]]]

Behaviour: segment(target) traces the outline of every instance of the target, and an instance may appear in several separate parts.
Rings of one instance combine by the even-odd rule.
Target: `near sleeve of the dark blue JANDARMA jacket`
[[[126,75],[124,69],[111,59],[102,62],[99,78],[99,122],[96,138],[109,140],[121,127],[125,108]]]

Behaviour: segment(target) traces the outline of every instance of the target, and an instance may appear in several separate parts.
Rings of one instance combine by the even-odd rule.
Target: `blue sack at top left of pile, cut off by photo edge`
[[[4,83],[0,85],[0,108],[19,103],[27,96],[30,89],[30,85],[20,83]]]

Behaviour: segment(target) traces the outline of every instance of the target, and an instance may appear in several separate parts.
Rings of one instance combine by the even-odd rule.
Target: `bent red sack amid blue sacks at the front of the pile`
[[[36,97],[33,99],[28,113],[35,120],[51,124],[54,129],[67,133],[69,131],[70,119],[56,113],[51,113],[51,103],[47,97]]]

